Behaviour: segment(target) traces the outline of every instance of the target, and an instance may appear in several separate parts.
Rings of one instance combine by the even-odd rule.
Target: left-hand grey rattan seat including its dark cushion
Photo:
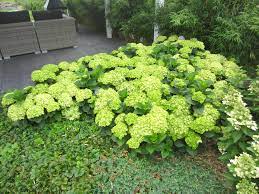
[[[3,16],[1,16],[1,14]],[[33,23],[30,22],[29,13],[23,12],[22,15],[28,14],[28,21],[21,20],[20,12],[4,14],[0,24],[0,50],[4,59],[11,56],[21,55],[26,53],[39,53],[39,45]],[[15,15],[15,17],[12,16]],[[10,16],[10,17],[9,17]],[[6,17],[6,19],[4,19]],[[17,19],[17,21],[16,21]],[[8,23],[10,22],[10,23]]]

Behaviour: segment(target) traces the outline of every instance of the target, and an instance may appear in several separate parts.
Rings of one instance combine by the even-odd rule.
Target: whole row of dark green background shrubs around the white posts
[[[105,29],[103,1],[68,0],[68,7],[82,23]],[[129,41],[152,42],[156,21],[162,35],[195,37],[213,53],[257,64],[258,12],[255,0],[167,0],[155,16],[154,0],[113,0],[109,17]]]

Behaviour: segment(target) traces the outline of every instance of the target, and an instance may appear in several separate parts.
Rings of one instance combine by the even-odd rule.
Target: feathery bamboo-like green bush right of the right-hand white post
[[[169,0],[157,15],[162,34],[196,37],[242,64],[258,62],[256,1]]]

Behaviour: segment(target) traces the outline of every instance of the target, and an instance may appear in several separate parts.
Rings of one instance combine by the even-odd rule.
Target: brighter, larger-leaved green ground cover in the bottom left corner
[[[90,192],[92,167],[111,147],[87,121],[64,121],[43,128],[13,127],[0,121],[0,192]]]

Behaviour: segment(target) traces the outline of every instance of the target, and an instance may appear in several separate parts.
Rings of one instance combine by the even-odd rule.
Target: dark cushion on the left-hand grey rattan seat
[[[26,10],[14,12],[0,12],[0,24],[10,24],[29,21],[29,12]]]

